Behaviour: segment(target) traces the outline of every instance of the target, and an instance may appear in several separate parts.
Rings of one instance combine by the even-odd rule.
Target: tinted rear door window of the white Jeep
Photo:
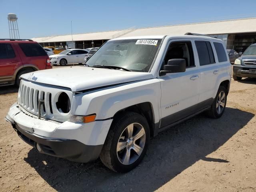
[[[212,46],[209,41],[196,41],[195,44],[200,66],[215,63]]]

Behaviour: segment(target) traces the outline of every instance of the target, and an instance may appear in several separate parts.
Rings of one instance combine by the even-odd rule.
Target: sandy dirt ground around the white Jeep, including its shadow
[[[0,88],[0,191],[256,191],[256,80],[232,80],[224,115],[195,116],[151,139],[142,163],[118,174],[97,160],[82,164],[23,142],[4,120],[17,100]]]

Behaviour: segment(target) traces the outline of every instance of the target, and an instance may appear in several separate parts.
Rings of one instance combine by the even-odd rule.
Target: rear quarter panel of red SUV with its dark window
[[[48,55],[46,51],[36,42],[22,42],[17,46],[24,65],[34,65],[39,70],[46,69]]]

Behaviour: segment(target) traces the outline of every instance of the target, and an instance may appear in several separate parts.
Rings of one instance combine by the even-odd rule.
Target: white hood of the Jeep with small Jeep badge
[[[153,75],[146,72],[72,66],[35,71],[24,74],[21,78],[70,88],[74,92],[101,86],[150,79],[153,78]]]

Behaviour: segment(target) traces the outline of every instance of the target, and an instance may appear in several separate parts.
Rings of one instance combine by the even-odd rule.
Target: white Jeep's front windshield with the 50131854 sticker
[[[148,72],[161,39],[126,39],[106,42],[86,64],[90,67],[117,66],[131,71]]]

